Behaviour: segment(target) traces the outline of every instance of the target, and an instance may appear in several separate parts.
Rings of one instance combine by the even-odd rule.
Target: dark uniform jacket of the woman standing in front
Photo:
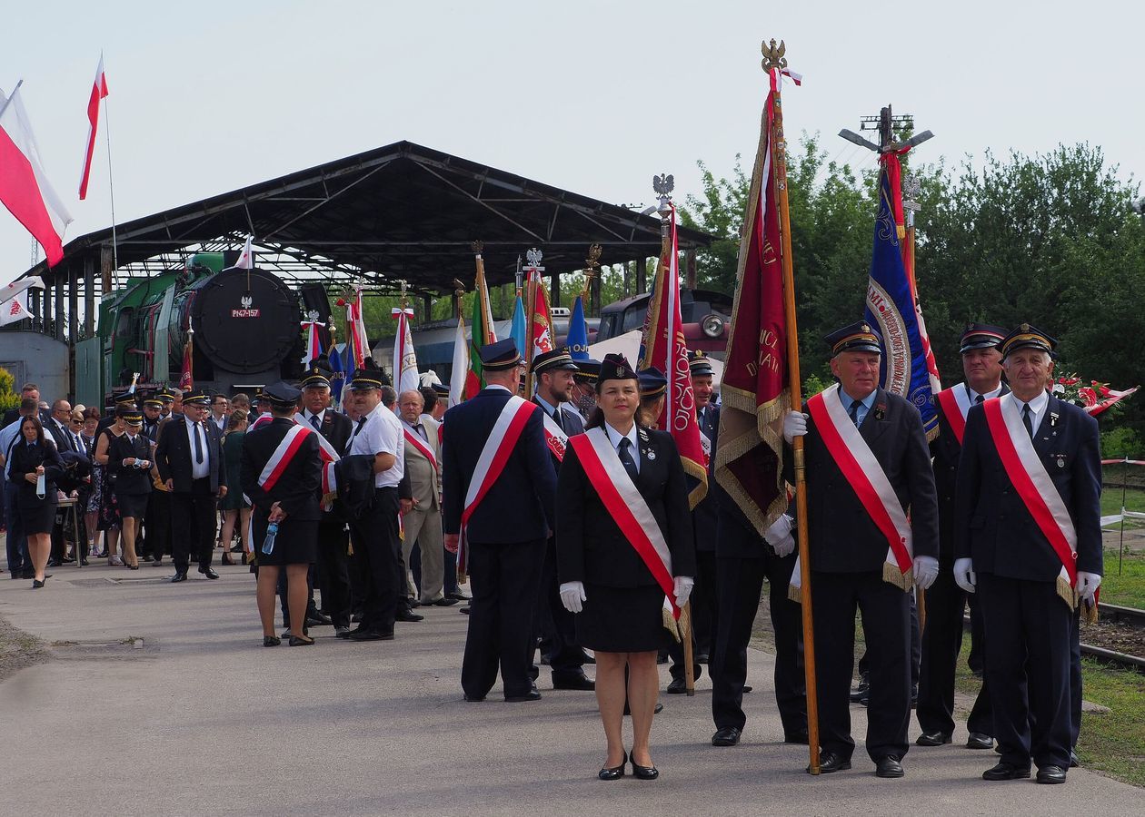
[[[668,542],[672,574],[694,577],[696,555],[688,489],[676,442],[668,431],[639,428],[637,435],[640,441],[637,489]],[[655,457],[649,452],[655,452]],[[609,587],[656,584],[652,571],[605,509],[572,446],[564,453],[556,493],[556,570],[562,582]]]

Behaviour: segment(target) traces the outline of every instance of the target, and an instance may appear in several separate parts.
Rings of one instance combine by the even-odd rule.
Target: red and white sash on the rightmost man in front
[[[1077,584],[1077,530],[1021,422],[1020,404],[1021,400],[1011,394],[986,400],[982,403],[986,425],[1010,483],[1061,561],[1058,595],[1074,608],[1077,604],[1074,592]]]

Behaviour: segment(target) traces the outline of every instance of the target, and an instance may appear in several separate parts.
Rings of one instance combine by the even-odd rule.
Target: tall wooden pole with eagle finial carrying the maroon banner
[[[795,271],[791,267],[791,221],[787,196],[787,143],[783,141],[783,104],[780,98],[782,74],[787,68],[783,41],[775,45],[763,43],[763,66],[768,73],[768,81],[774,78],[774,126],[768,135],[772,144],[772,156],[775,167],[775,198],[780,207],[780,243],[783,262],[783,311],[787,324],[788,381],[791,390],[791,410],[803,411],[803,389],[799,383],[799,333],[796,327],[795,311]],[[807,684],[807,748],[811,763],[807,770],[812,775],[820,772],[819,767],[819,696],[815,685],[815,628],[811,609],[811,552],[807,544],[807,482],[804,463],[803,437],[791,442],[795,450],[795,507],[796,530],[799,542],[799,601],[803,613],[803,667]]]

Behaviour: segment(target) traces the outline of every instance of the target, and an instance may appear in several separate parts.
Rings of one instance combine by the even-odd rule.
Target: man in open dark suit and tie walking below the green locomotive
[[[211,568],[211,557],[218,518],[215,503],[227,495],[227,466],[219,428],[206,421],[210,411],[207,395],[188,391],[183,395],[182,415],[172,415],[156,446],[159,478],[171,492],[173,582],[187,581],[192,552],[199,572],[208,579],[219,578]]]

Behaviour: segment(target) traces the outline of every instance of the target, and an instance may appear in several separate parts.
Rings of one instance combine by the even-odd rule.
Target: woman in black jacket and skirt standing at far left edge
[[[27,554],[35,571],[32,588],[44,587],[48,574],[44,569],[52,552],[52,528],[56,521],[56,477],[63,471],[63,462],[55,444],[44,434],[44,426],[37,417],[25,417],[19,423],[21,439],[11,450],[11,467],[8,478],[16,483],[16,503],[27,534]],[[44,491],[38,485],[44,477]]]

